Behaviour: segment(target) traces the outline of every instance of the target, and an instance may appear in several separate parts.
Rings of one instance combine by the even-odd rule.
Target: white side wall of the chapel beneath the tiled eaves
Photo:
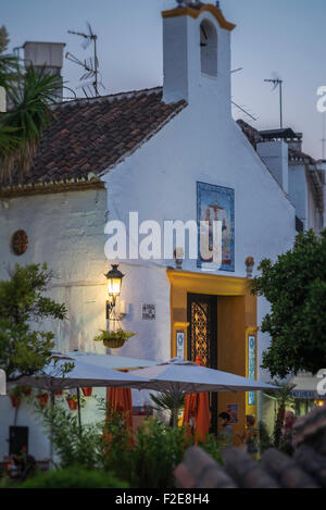
[[[104,189],[37,195],[0,201],[0,278],[8,278],[8,266],[15,263],[47,262],[54,272],[49,296],[67,308],[63,323],[43,321],[39,327],[52,331],[59,350],[97,350],[92,341],[99,328],[105,327],[108,261],[104,256],[103,225],[106,216]],[[16,257],[11,251],[11,237],[25,229],[29,246]],[[103,391],[99,390],[103,396]],[[66,403],[64,402],[66,406]],[[96,402],[87,400],[84,420],[96,420]],[[14,409],[9,397],[0,397],[0,459],[8,455],[9,426],[14,424]],[[29,426],[29,452],[37,459],[49,457],[49,444],[41,434],[26,401],[18,410],[18,426]]]

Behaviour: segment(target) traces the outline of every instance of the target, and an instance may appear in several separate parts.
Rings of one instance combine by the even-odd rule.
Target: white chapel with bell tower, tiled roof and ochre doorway
[[[308,221],[304,208],[311,206],[299,211],[292,199],[288,146],[231,117],[235,25],[201,2],[185,2],[162,17],[163,87],[58,104],[24,182],[13,177],[1,186],[0,277],[8,277],[8,264],[47,262],[55,273],[51,296],[68,310],[63,324],[46,325],[58,349],[105,352],[93,337],[105,327],[104,274],[118,262],[125,277],[117,311],[122,327],[137,336],[111,353],[158,361],[200,353],[208,366],[268,380],[260,361],[269,338],[259,331],[268,303],[251,296],[248,276],[263,258],[276,260],[291,248],[296,216]],[[308,186],[300,192],[314,197],[319,184],[312,177]],[[142,224],[136,237],[130,212]],[[190,259],[188,245],[185,260],[150,257],[153,224],[143,222],[156,222],[163,232],[168,221],[210,225],[216,219],[223,225],[222,265],[210,254]],[[118,261],[105,258],[108,221],[126,225],[127,252]],[[20,256],[17,237],[25,247]],[[148,257],[139,257],[139,240]],[[176,241],[173,249],[179,248]],[[0,406],[1,457],[14,411],[9,399]],[[91,406],[85,415],[92,416]],[[255,394],[221,394],[212,407],[214,425],[222,410],[234,413],[235,432],[243,428],[246,413],[259,418],[262,411]],[[23,407],[16,424],[33,420]],[[30,430],[29,449],[40,458],[46,439],[37,431]]]

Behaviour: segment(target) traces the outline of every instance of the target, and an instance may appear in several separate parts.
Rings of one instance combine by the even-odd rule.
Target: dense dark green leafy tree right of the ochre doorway
[[[297,236],[291,250],[273,264],[265,259],[252,293],[264,296],[271,312],[262,332],[272,343],[263,353],[263,369],[280,378],[299,371],[316,373],[326,366],[326,231]]]

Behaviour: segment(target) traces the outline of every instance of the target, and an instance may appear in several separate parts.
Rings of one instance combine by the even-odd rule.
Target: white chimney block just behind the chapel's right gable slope
[[[256,151],[279,186],[289,191],[289,148],[283,140],[263,141],[256,145]]]

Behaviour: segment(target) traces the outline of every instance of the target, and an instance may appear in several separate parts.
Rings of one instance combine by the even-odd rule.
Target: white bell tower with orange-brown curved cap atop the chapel
[[[205,101],[230,115],[230,32],[218,7],[177,0],[162,12],[163,100]],[[211,109],[212,109],[211,104]]]

